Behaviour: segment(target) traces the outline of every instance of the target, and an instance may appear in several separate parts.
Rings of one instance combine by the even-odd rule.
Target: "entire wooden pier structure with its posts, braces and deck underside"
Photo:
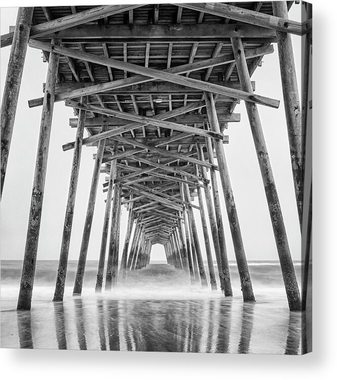
[[[73,150],[73,161],[54,300],[63,300],[81,149],[87,145],[97,146],[97,154],[88,183],[74,295],[81,294],[99,177],[106,173],[97,292],[104,278],[109,291],[124,282],[128,272],[145,267],[151,246],[162,244],[167,263],[185,271],[192,283],[221,287],[224,296],[232,296],[223,225],[227,217],[243,300],[255,301],[225,154],[226,128],[240,121],[235,113],[240,100],[245,102],[261,169],[289,309],[305,309],[307,278],[301,301],[257,106],[277,108],[279,100],[256,94],[250,80],[264,55],[275,54],[276,43],[302,229],[312,11],[304,4],[305,21],[289,20],[293,3],[298,2],[19,9],[16,26],[1,36],[1,47],[12,45],[1,108],[1,192],[27,46],[43,51],[48,73],[44,96],[29,100],[29,107],[41,107],[41,124],[18,310],[31,307],[53,106],[58,101],[73,108],[77,117],[70,119],[70,126],[77,129],[74,141],[63,145],[63,150]],[[302,106],[291,34],[302,36],[305,46]],[[89,137],[83,136],[85,129]],[[119,252],[121,207],[129,216]],[[195,213],[201,217],[207,267]],[[309,223],[306,227],[309,231]],[[305,268],[308,262],[309,253]]]

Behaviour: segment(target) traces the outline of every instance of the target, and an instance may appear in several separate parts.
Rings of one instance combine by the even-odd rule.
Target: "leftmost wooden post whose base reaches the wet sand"
[[[60,41],[54,41],[59,44]],[[30,310],[33,291],[38,236],[41,223],[42,204],[46,182],[49,141],[52,129],[52,118],[55,97],[55,85],[59,66],[59,55],[51,53],[46,79],[44,104],[41,112],[40,134],[37,146],[37,156],[28,219],[27,240],[23,258],[23,268],[18,299],[18,310]]]

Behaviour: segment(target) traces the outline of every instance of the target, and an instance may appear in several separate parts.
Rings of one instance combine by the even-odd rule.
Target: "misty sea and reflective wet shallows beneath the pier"
[[[255,303],[243,303],[234,262],[228,298],[219,284],[217,291],[191,285],[163,261],[128,273],[125,284],[101,294],[94,291],[98,263],[88,261],[82,295],[75,297],[77,262],[69,261],[64,301],[52,302],[58,262],[40,260],[32,309],[17,312],[22,261],[3,260],[1,347],[300,354],[303,316],[288,310],[279,263],[248,264]],[[300,263],[294,266],[300,283]]]

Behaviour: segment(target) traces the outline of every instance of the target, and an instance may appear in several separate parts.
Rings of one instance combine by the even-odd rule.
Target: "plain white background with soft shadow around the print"
[[[44,1],[44,5],[69,5]],[[63,4],[64,3],[64,4]],[[84,1],[71,1],[72,5]],[[86,2],[88,3],[88,2]],[[110,2],[111,3],[111,2]],[[126,3],[123,1],[123,3]],[[148,2],[150,3],[150,2]],[[152,2],[151,2],[152,3]],[[6,2],[2,6],[34,6]],[[92,2],[94,4],[94,2]],[[102,1],[100,4],[109,4]],[[2,378],[332,379],[336,378],[335,2],[313,0],[314,12],[314,353],[267,355],[0,350]]]

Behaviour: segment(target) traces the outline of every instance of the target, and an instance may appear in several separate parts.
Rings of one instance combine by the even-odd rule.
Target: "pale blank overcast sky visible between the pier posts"
[[[289,18],[300,21],[300,7],[300,5],[293,5]],[[1,34],[8,33],[9,26],[15,25],[16,14],[17,8],[1,8]],[[300,37],[292,35],[292,42],[298,85],[301,88]],[[264,57],[262,67],[257,68],[252,80],[256,81],[256,92],[259,95],[280,100],[278,109],[259,106],[259,111],[291,255],[294,260],[299,260],[301,259],[300,228],[293,189],[276,44],[274,44],[274,49],[274,54]],[[2,96],[10,47],[2,48],[0,53]],[[42,88],[43,83],[46,81],[46,73],[47,63],[43,62],[41,52],[28,48],[1,202],[1,259],[22,259],[24,255],[41,116],[41,107],[29,108],[28,100],[43,96]],[[244,102],[241,102],[235,108],[235,112],[241,113],[241,122],[229,124],[229,128],[225,133],[229,135],[230,143],[224,145],[224,148],[246,256],[248,260],[277,260],[278,255],[265,191]],[[71,108],[65,107],[64,103],[55,104],[37,259],[59,258],[73,155],[72,150],[63,152],[62,144],[74,140],[76,130],[69,127],[69,118],[73,117]],[[72,260],[78,259],[94,165],[93,153],[95,151],[96,148],[92,147],[83,147],[82,149],[69,251],[69,259]],[[220,177],[218,179],[221,199],[223,199]],[[103,194],[102,192],[102,183],[104,181],[105,174],[101,174],[88,259],[98,259],[99,256],[105,209],[104,199],[106,193]],[[197,199],[195,199],[195,203],[197,204]],[[228,256],[230,260],[234,260],[234,250],[224,202],[222,202],[222,206]],[[197,210],[194,209],[194,213],[198,223],[200,243],[204,248],[200,217]],[[127,217],[127,211],[123,208],[121,246]],[[204,249],[203,256],[206,258]],[[151,258],[164,259],[163,248],[158,245],[154,246]]]

